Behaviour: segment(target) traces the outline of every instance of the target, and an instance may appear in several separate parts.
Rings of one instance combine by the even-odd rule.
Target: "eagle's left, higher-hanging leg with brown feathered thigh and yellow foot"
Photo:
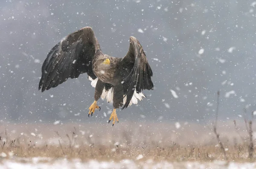
[[[100,107],[97,105],[97,101],[99,100],[100,96],[102,95],[102,91],[104,89],[104,85],[105,85],[105,83],[98,79],[96,87],[95,87],[94,102],[89,107],[88,117],[90,117],[90,114],[93,116],[93,113],[94,113],[95,109],[99,109],[100,110]]]

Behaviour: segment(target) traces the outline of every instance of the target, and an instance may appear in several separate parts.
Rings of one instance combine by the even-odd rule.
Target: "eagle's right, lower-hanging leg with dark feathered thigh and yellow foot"
[[[114,107],[114,110],[110,115],[108,123],[113,119],[113,125],[114,125],[115,121],[119,122],[118,118],[117,118],[117,115],[116,115],[116,109],[118,109],[123,104],[122,83],[119,83],[119,85],[114,86],[113,90],[114,90],[114,93],[113,93],[113,107]]]

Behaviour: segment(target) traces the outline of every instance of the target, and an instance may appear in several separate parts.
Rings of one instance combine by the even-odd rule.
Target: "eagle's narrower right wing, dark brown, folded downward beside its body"
[[[140,42],[135,37],[130,37],[129,51],[121,61],[121,73],[124,95],[126,96],[126,102],[122,109],[128,107],[134,90],[138,94],[145,89],[153,90],[154,85],[151,81],[153,72]]]

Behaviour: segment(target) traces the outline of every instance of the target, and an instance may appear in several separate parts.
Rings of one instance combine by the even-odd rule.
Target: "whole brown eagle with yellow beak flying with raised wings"
[[[39,90],[44,92],[57,87],[68,78],[78,78],[87,73],[91,85],[95,87],[94,101],[89,107],[88,116],[100,110],[100,98],[113,101],[113,119],[119,122],[116,109],[127,108],[145,98],[143,90],[153,90],[153,76],[140,42],[130,37],[130,46],[123,58],[103,54],[91,27],[75,31],[58,42],[48,53],[42,65]],[[112,126],[113,126],[112,125]]]

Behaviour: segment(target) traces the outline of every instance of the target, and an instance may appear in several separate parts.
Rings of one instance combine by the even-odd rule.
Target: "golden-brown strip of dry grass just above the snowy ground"
[[[229,147],[227,157],[230,161],[249,161],[247,158],[247,146]],[[2,152],[7,155],[13,152],[18,157],[50,157],[50,158],[80,158],[83,161],[120,161],[122,159],[137,160],[143,155],[142,160],[154,161],[214,161],[224,160],[224,155],[219,147],[215,146],[86,146],[79,148],[73,146],[35,146],[28,144],[23,146],[4,147]],[[255,160],[255,159],[254,159]]]

